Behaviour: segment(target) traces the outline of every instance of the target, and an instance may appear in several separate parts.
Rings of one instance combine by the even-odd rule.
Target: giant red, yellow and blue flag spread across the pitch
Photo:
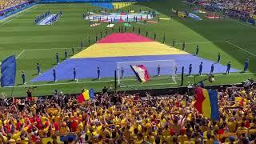
[[[212,44],[210,45],[212,46]],[[194,67],[199,67],[200,62],[206,67],[202,70],[202,74],[209,74],[210,66],[214,63],[203,58],[194,57],[184,50],[179,50],[173,46],[167,46],[164,43],[154,42],[150,38],[143,37],[134,33],[113,33],[102,38],[95,44],[86,47],[78,54],[66,59],[57,66],[52,67],[43,74],[33,78],[31,82],[51,82],[53,81],[53,69],[58,71],[58,80],[74,79],[72,70],[77,70],[77,78],[98,78],[97,66],[99,66],[101,78],[113,77],[113,71],[117,69],[117,63],[124,62],[142,62],[151,61],[152,65],[146,63],[131,63],[133,70],[129,66],[123,66],[124,78],[129,78],[137,74],[140,82],[146,82],[152,74],[157,74],[158,65],[161,65],[161,75],[170,75],[173,73],[170,70],[169,62],[166,60],[174,60],[177,66],[177,74],[182,74],[182,66],[188,67],[192,64]],[[158,63],[161,62],[161,63]],[[138,66],[144,65],[144,66]],[[146,67],[145,67],[146,66]],[[85,68],[86,67],[86,68]],[[226,72],[226,66],[214,64],[214,73]],[[146,73],[148,71],[149,74]],[[238,70],[230,69],[230,72],[238,72]],[[185,69],[184,74],[188,74],[189,70]],[[193,69],[191,74],[198,74],[198,69]],[[8,79],[8,78],[7,78]]]

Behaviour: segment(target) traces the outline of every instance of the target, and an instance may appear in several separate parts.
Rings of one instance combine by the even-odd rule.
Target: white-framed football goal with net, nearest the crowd
[[[130,66],[146,66],[150,81],[138,82],[134,70]],[[119,87],[126,86],[154,86],[177,84],[176,74],[178,66],[174,60],[154,60],[137,62],[117,62],[117,82]]]

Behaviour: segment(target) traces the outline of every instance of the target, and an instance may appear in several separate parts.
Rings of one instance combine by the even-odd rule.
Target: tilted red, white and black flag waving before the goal
[[[138,78],[139,82],[147,82],[150,80],[150,74],[147,72],[146,66],[139,65],[139,66],[131,66],[130,68],[134,70],[135,75]]]

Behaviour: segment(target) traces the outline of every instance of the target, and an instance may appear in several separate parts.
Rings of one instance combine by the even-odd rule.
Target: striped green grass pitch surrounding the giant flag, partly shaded
[[[178,0],[163,0],[152,2],[138,2],[132,6],[122,8],[124,11],[130,10],[155,10],[160,18],[170,18],[171,8],[189,11],[186,4]],[[57,13],[63,12],[62,18],[58,19],[53,26],[35,26],[34,18],[50,10]],[[25,70],[26,81],[36,77],[36,63],[39,62],[42,71],[49,70],[55,64],[55,53],[58,52],[61,59],[64,58],[64,50],[69,50],[72,46],[79,47],[80,42],[86,42],[87,38],[94,41],[95,34],[104,32],[106,23],[94,28],[89,27],[89,22],[82,18],[82,14],[87,10],[99,10],[90,6],[89,3],[54,3],[39,4],[24,10],[19,14],[0,21],[0,59],[15,54],[17,57],[17,77],[16,86],[13,88],[0,88],[0,93],[7,96],[21,97],[26,95],[28,87],[33,88],[34,96],[52,94],[54,89],[61,90],[64,94],[79,93],[82,88],[94,88],[96,91],[102,86],[114,88],[114,78],[102,78],[100,81],[82,79],[79,82],[60,81],[60,82],[37,82],[27,83],[22,86],[21,72]],[[203,18],[202,14],[198,14]],[[155,19],[156,20],[156,19]],[[148,23],[142,26],[132,23],[135,28],[140,27],[142,35],[149,32],[149,37],[153,38],[154,33],[158,34],[157,40],[162,42],[163,34],[166,34],[166,44],[172,45],[173,40],[177,43],[186,42],[186,51],[194,54],[195,46],[199,45],[199,56],[202,58],[216,61],[217,54],[222,54],[222,64],[231,62],[232,67],[242,70],[245,58],[250,59],[250,72],[248,74],[218,74],[213,83],[206,82],[206,85],[238,83],[246,78],[255,78],[256,67],[256,27],[238,22],[234,19],[215,19],[203,18],[197,22],[193,19],[180,19],[172,16],[171,20],[161,20],[158,24]],[[116,24],[115,30],[118,30]],[[130,30],[131,28],[127,29]],[[176,45],[179,49],[181,44]],[[76,49],[76,53],[80,48]],[[71,53],[71,52],[70,52]],[[184,86],[187,83],[198,82],[207,76],[185,77]],[[127,85],[134,82],[126,82]],[[156,83],[162,83],[158,85]],[[165,85],[166,80],[151,82],[152,85],[136,86],[135,88],[126,87],[118,90],[152,89],[175,87],[180,85],[179,79],[176,84]],[[171,82],[170,82],[171,83]],[[155,85],[154,85],[155,84]]]

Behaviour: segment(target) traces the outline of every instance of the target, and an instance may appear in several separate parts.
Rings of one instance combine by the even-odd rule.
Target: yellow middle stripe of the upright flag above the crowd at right
[[[202,94],[205,97],[204,101],[202,102],[202,114],[206,118],[210,118],[211,106],[210,106],[210,97],[208,94],[208,90],[202,89]]]

